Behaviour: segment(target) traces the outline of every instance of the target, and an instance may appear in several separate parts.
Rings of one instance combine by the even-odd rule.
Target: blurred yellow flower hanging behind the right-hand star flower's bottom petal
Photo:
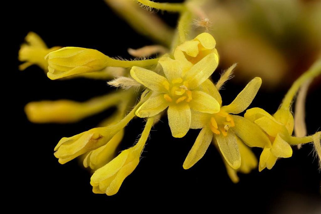
[[[239,176],[237,175],[238,172],[248,174],[251,172],[251,170],[253,170],[254,168],[257,167],[257,159],[256,159],[254,153],[250,150],[250,148],[248,148],[247,145],[245,145],[243,143],[243,141],[241,139],[239,139],[239,137],[236,137],[236,142],[238,144],[240,155],[241,155],[241,165],[238,169],[233,169],[227,163],[227,161],[225,160],[221,151],[219,150],[217,142],[213,141],[213,144],[219,150],[219,152],[223,158],[227,174],[229,175],[229,177],[233,183],[239,182]]]

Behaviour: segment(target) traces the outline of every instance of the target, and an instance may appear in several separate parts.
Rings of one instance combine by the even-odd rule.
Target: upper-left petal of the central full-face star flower
[[[167,79],[159,74],[147,70],[145,68],[134,66],[130,70],[130,75],[139,83],[143,84],[146,88],[160,93],[166,93],[168,90],[165,89],[164,83]]]

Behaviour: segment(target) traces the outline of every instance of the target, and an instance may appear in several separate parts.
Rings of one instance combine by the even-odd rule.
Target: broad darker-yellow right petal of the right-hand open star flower
[[[271,141],[256,124],[241,116],[230,116],[233,118],[235,126],[230,127],[229,130],[239,136],[247,146],[271,148]]]

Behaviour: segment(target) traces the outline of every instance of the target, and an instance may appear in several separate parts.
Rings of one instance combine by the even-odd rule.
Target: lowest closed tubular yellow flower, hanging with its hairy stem
[[[153,122],[153,117],[148,118],[143,133],[134,147],[122,151],[108,164],[95,171],[90,181],[94,193],[114,195],[118,192],[125,178],[137,167]]]

